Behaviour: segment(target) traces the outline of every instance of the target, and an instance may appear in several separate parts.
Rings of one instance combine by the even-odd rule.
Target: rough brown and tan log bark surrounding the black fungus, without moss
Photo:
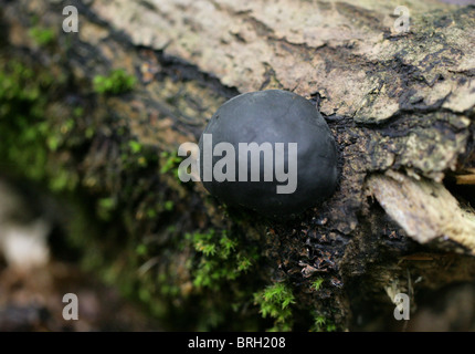
[[[138,278],[139,288],[166,279],[157,287],[178,289],[167,298],[150,285],[142,301],[167,298],[165,308],[182,306],[197,317],[235,302],[233,315],[223,310],[204,325],[230,329],[223,323],[233,316],[257,313],[260,302],[250,293],[283,282],[295,296],[293,320],[283,315],[294,329],[308,330],[313,321],[317,329],[323,322],[327,330],[361,329],[378,316],[392,321],[398,292],[413,296],[474,280],[474,195],[452,181],[475,164],[474,7],[405,1],[411,25],[400,34],[393,30],[398,1],[71,3],[80,12],[78,33],[62,32],[63,2],[1,1],[3,58],[30,53],[30,64],[67,77],[67,90],[55,93],[63,103],[56,113],[71,112],[67,97],[85,107],[80,137],[95,122],[95,133],[80,148],[66,146],[51,158],[66,160],[77,189],[112,196],[117,219],[127,225],[127,240],[110,250],[103,246],[101,263],[119,264],[113,267],[118,273],[133,269],[129,279]],[[54,43],[35,43],[32,25],[52,28]],[[133,92],[92,92],[95,76],[119,67],[137,77]],[[144,168],[124,167],[124,142],[138,142],[154,156],[173,154],[179,144],[197,142],[226,98],[266,88],[312,100],[339,147],[338,190],[305,215],[281,223],[223,210],[201,186],[167,174],[170,158],[161,155],[144,155],[149,159]],[[173,201],[172,212],[163,209],[166,200]],[[156,212],[148,218],[150,206]],[[187,262],[202,266],[199,247],[180,243],[186,232],[210,229],[239,235],[239,248],[258,250],[252,271],[238,280],[220,278],[221,292],[197,285],[194,266]],[[141,242],[152,246],[147,259],[131,261],[130,248]],[[211,299],[217,294],[223,299]],[[208,299],[204,312],[192,305],[200,296]]]

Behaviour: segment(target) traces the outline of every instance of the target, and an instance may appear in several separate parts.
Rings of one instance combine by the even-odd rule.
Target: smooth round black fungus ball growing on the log
[[[266,216],[302,212],[337,185],[337,149],[327,123],[312,103],[287,91],[251,92],[228,101],[199,146],[208,191]]]

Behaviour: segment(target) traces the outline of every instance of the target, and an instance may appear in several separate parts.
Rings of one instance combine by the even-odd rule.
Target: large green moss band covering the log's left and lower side
[[[258,249],[239,230],[187,232],[192,212],[183,218],[178,192],[160,181],[181,158],[87,105],[64,104],[65,88],[50,70],[0,58],[0,167],[71,197],[65,239],[83,269],[170,329],[262,329],[252,306]]]

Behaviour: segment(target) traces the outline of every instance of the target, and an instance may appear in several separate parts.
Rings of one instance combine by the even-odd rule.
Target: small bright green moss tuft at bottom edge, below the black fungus
[[[254,303],[260,306],[263,317],[274,319],[274,326],[270,331],[291,331],[293,313],[291,304],[295,298],[289,285],[275,283],[254,294]]]

